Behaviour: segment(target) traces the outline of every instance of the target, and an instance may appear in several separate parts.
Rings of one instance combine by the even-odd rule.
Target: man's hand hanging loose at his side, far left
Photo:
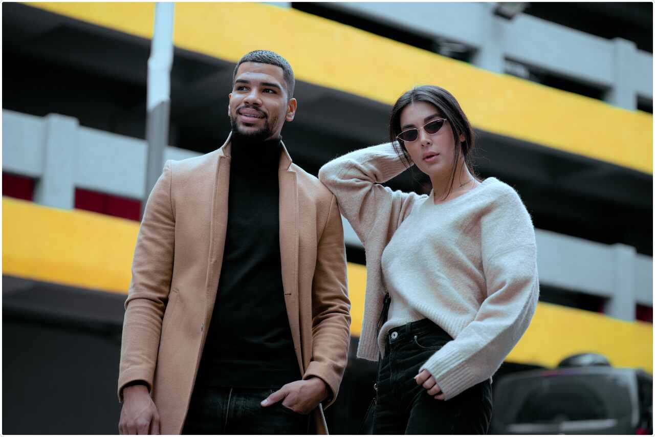
[[[159,413],[145,385],[130,385],[123,389],[119,432],[159,434]]]

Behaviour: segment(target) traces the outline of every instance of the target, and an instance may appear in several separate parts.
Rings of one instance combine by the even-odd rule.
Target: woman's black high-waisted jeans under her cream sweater
[[[428,319],[390,330],[377,375],[373,434],[486,434],[491,422],[489,379],[450,400],[437,400],[414,377],[453,338]]]

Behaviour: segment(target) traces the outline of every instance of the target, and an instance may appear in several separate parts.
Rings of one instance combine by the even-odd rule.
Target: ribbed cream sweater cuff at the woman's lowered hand
[[[447,347],[443,347],[430,356],[419,369],[419,373],[423,369],[428,370],[448,400],[477,383],[476,376],[464,361],[464,357],[457,351],[448,351]]]

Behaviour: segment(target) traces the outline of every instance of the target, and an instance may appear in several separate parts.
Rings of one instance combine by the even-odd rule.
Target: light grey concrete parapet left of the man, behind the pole
[[[41,118],[3,109],[2,123],[3,171],[37,178],[37,189],[56,187],[39,192],[37,203],[73,208],[75,187],[145,198],[144,140],[78,126],[76,119],[61,115]],[[164,149],[164,160],[198,155]]]

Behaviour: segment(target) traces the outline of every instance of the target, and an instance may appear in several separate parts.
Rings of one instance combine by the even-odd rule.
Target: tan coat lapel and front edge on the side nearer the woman
[[[291,157],[282,143],[278,180],[280,184],[280,260],[282,261],[282,286],[286,303],[295,355],[304,373],[301,355],[300,318],[298,303],[298,248],[299,208],[297,174],[290,170]]]

